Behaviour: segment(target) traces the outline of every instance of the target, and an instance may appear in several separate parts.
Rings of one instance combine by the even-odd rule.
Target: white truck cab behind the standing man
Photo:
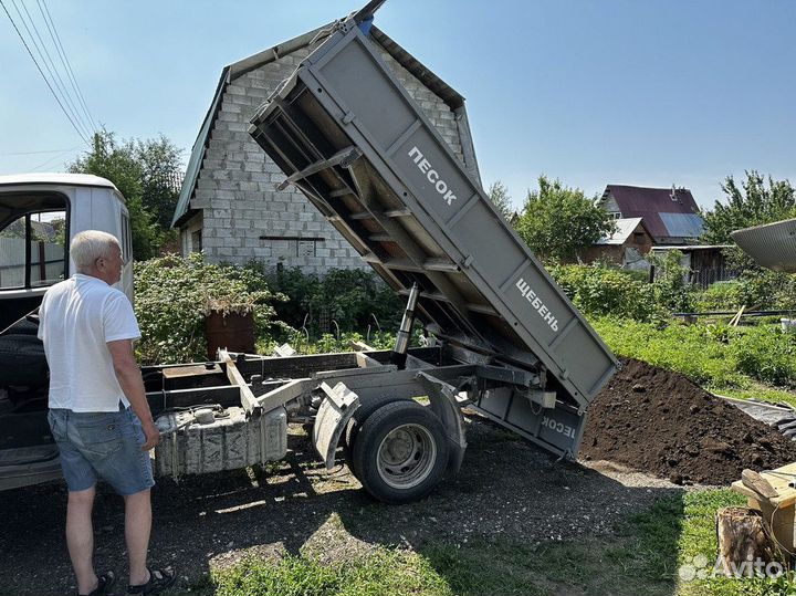
[[[75,272],[70,240],[91,229],[119,239],[117,287],[132,300],[129,215],[113,182],[83,174],[0,176],[0,490],[60,474],[46,422],[44,348],[25,316]]]

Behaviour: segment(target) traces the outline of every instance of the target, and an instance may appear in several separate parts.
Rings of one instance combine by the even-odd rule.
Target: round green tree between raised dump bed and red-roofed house
[[[579,188],[540,176],[540,189],[528,191],[516,229],[541,258],[573,260],[616,229],[611,217]]]

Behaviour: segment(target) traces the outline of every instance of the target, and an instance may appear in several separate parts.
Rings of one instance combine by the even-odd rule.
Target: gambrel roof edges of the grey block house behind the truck
[[[274,45],[268,50],[253,54],[251,56],[239,60],[224,66],[221,72],[221,77],[216,86],[216,93],[202,121],[202,125],[199,128],[199,135],[193,143],[191,148],[191,155],[188,159],[188,166],[186,168],[186,176],[182,181],[182,188],[180,196],[175,208],[175,215],[171,220],[171,227],[176,227],[191,217],[193,213],[190,210],[190,200],[193,196],[197,180],[199,178],[199,170],[205,158],[205,151],[207,149],[208,142],[210,139],[210,130],[212,124],[216,121],[218,111],[221,107],[221,98],[227,88],[227,85],[235,79],[243,76],[250,71],[264,66],[270,62],[279,60],[281,56],[295,52],[301,48],[311,45],[317,38],[323,39],[324,32],[331,31],[335,23],[327,23],[323,27],[314,29],[303,35],[298,35],[283,43]],[[462,97],[453,87],[448,85],[433,72],[427,69],[420,61],[415,59],[409,52],[396,43],[389,35],[377,27],[370,27],[370,36],[381,45],[387,53],[389,53],[396,62],[409,71],[416,76],[423,85],[430,88],[437,96],[439,96],[451,109],[457,109],[464,105],[464,97]],[[263,159],[264,159],[263,154]]]

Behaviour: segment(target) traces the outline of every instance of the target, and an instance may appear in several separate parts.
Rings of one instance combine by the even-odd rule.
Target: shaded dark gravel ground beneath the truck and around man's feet
[[[287,459],[269,474],[213,474],[154,492],[151,562],[178,566],[186,593],[210,568],[245,554],[312,552],[353,557],[375,545],[418,548],[505,539],[535,543],[611,532],[628,513],[679,491],[673,484],[594,462],[556,463],[533,445],[485,421],[469,419],[461,472],[426,500],[391,506],[374,502],[341,464],[317,463],[301,428]],[[0,594],[62,595],[74,589],[63,540],[65,489],[59,484],[0,493]],[[123,510],[101,488],[95,509],[96,564],[126,582]]]

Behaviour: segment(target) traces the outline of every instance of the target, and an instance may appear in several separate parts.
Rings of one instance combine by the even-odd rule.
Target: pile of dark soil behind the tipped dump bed
[[[624,365],[589,408],[580,457],[701,484],[796,461],[796,442],[684,376],[639,360]]]

